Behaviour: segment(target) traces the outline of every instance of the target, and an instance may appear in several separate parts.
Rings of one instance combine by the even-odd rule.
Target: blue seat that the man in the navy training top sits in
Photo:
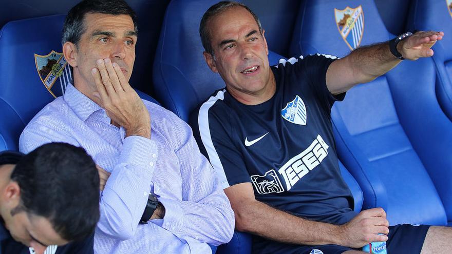
[[[204,51],[198,29],[203,13],[216,0],[173,0],[166,9],[162,32],[154,62],[154,84],[157,99],[182,120],[188,121],[193,109],[215,90],[223,88],[221,77],[205,64]],[[270,64],[281,56],[270,52]],[[342,166],[346,182],[352,186],[355,209],[361,210],[362,191],[356,181]],[[217,253],[250,253],[251,237],[235,232],[229,244],[218,247]]]

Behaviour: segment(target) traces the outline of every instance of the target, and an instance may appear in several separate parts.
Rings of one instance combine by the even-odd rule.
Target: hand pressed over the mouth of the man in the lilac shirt
[[[98,103],[111,121],[124,127],[126,136],[139,135],[150,139],[150,116],[137,92],[130,87],[121,68],[110,58],[99,59],[91,73],[98,92]]]

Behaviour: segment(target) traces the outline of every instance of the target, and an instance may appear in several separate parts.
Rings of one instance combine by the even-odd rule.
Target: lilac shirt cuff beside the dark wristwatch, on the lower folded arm
[[[170,200],[163,197],[159,198],[159,202],[165,207],[163,228],[180,237],[185,218],[181,202],[179,200]]]

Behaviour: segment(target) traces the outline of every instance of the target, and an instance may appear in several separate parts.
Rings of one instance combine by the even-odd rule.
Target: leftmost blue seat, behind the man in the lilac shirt
[[[71,79],[68,66],[60,72],[56,64],[65,62],[60,55],[64,17],[13,21],[0,30],[0,151],[18,149],[19,135],[27,123],[54,99],[53,95],[62,95],[64,85]],[[48,64],[48,57],[55,62]],[[45,86],[44,82],[53,82],[53,86]]]

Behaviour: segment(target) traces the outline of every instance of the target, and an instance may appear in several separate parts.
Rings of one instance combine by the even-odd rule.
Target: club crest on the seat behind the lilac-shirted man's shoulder
[[[52,50],[47,55],[34,54],[34,63],[41,81],[53,97],[64,94],[67,84],[72,79],[69,66],[63,53]],[[59,80],[55,84],[56,80]]]

